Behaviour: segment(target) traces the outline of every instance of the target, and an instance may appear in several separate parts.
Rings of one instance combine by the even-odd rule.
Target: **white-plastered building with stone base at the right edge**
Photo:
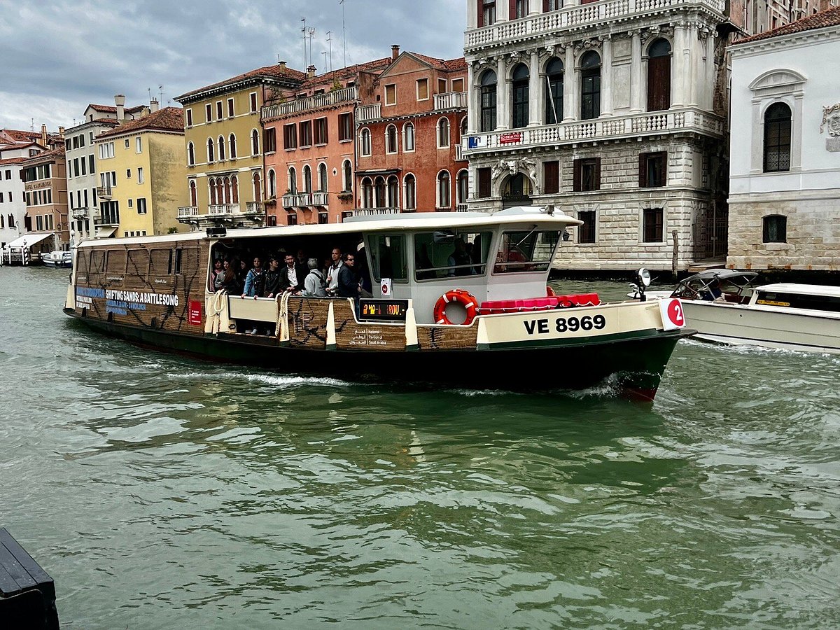
[[[731,54],[727,266],[840,269],[840,8]]]

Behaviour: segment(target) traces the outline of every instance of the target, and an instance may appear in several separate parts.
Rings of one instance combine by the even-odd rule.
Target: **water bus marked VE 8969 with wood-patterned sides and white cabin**
[[[675,298],[554,295],[550,267],[578,224],[553,207],[512,207],[88,240],[65,312],[136,344],[286,373],[507,391],[606,384],[652,401],[693,331]],[[372,297],[213,290],[217,259],[282,265],[303,250],[320,262],[335,248],[360,259]]]

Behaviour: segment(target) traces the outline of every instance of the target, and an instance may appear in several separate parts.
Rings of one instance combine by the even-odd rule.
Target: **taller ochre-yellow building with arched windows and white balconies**
[[[293,98],[304,79],[281,62],[176,97],[184,106],[189,201],[178,211],[182,223],[264,222],[264,201],[276,200],[265,200],[263,158],[276,139],[264,137],[260,108]]]

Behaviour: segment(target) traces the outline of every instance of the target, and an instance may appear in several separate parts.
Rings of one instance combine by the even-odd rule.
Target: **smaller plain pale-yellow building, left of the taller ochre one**
[[[177,231],[184,187],[184,113],[163,108],[95,139],[99,216],[95,236]],[[182,231],[182,230],[181,230]]]

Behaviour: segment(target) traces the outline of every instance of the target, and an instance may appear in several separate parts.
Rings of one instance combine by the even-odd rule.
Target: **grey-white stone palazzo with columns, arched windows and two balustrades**
[[[553,7],[468,0],[470,209],[580,218],[571,269],[722,257],[724,3]]]

